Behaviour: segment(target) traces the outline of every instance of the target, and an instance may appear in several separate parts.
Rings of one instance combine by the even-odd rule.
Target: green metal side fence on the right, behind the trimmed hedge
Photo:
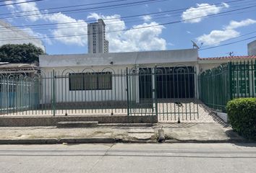
[[[229,62],[203,71],[198,84],[202,102],[226,112],[229,100],[256,96],[256,61]]]

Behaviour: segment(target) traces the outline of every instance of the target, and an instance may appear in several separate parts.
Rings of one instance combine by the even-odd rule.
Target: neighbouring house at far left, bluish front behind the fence
[[[38,66],[28,63],[0,63],[0,114],[8,107],[22,109],[36,104]]]

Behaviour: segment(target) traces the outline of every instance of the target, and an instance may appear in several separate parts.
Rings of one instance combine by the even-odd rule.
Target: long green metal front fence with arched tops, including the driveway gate
[[[0,76],[1,115],[158,115],[198,118],[192,66],[38,71]]]

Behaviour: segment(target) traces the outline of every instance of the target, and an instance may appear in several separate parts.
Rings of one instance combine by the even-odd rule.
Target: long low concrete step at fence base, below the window
[[[95,128],[98,121],[61,121],[57,123],[57,128]]]

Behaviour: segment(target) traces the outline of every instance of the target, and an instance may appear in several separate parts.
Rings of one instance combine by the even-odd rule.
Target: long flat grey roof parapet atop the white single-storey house
[[[125,53],[90,53],[74,55],[40,55],[40,67],[110,66],[197,62],[197,49],[157,50]]]

